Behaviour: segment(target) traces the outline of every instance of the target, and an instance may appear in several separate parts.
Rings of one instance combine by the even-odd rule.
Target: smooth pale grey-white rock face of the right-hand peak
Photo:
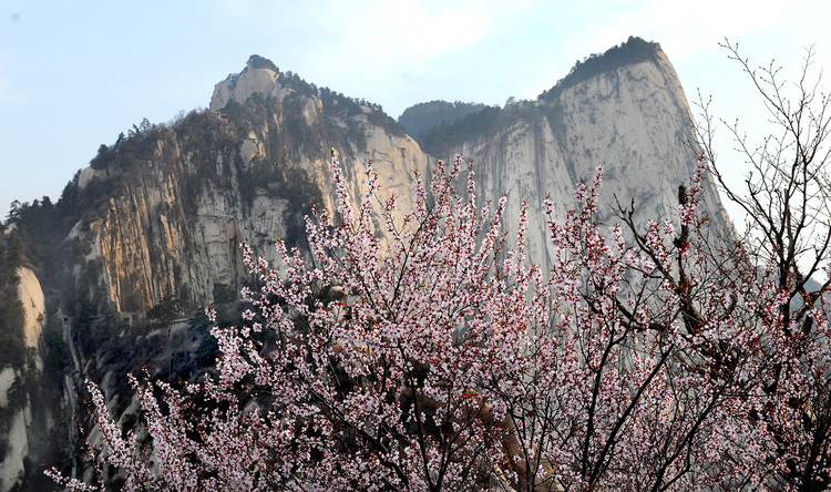
[[[556,101],[526,103],[506,111],[515,122],[499,133],[456,148],[473,160],[479,195],[506,193],[506,227],[516,230],[523,201],[529,205],[529,253],[551,266],[542,202],[556,213],[575,207],[575,185],[591,183],[603,165],[601,213],[616,223],[616,198],[635,199],[635,218],[676,217],[678,186],[689,184],[696,152],[686,145],[693,122],[684,90],[666,55],[628,64],[565,89]],[[708,182],[704,207],[715,223],[728,223]]]

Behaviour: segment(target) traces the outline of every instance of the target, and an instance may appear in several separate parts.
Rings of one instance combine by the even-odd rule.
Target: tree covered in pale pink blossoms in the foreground
[[[645,227],[633,206],[601,222],[602,168],[574,209],[548,206],[552,271],[526,258],[524,207],[511,236],[506,197],[478,205],[472,171],[456,192],[461,157],[380,216],[371,165],[356,209],[332,158],[337,219],[307,222],[307,254],[278,243],[274,268],[243,245],[257,287],[213,330],[215,376],[133,378],[126,431],[89,383],[91,458],[130,490],[823,490],[829,283],[807,278],[825,249],[801,275],[804,228],[776,212],[753,240],[715,237],[706,155],[677,216]]]

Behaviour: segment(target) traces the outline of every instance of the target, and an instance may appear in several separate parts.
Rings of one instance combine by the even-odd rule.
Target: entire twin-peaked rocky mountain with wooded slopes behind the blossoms
[[[93,428],[83,403],[86,378],[102,386],[126,428],[137,408],[129,371],[144,367],[152,377],[185,381],[206,370],[216,342],[199,312],[213,303],[220,322],[236,319],[235,293],[248,281],[238,244],[268,259],[276,259],[277,237],[302,247],[310,203],[332,208],[331,153],[356,204],[365,163],[372,161],[381,195],[396,194],[402,212],[412,207],[416,171],[427,175],[435,157],[463,153],[473,161],[483,202],[510,195],[506,227],[515,229],[521,202],[529,203],[531,255],[544,265],[540,212],[547,194],[562,214],[573,206],[575,183],[604,164],[603,203],[634,198],[636,217],[669,216],[678,185],[695,167],[696,153],[685,146],[691,116],[680,82],[660,47],[637,38],[586,59],[535,101],[463,116],[453,116],[455,105],[414,107],[437,110],[441,133],[425,132],[417,142],[402,126],[410,125],[406,119],[397,122],[377,104],[253,55],[216,85],[209,110],[168,125],[135,125],[102,145],[57,204],[14,209],[0,253],[18,252],[7,262],[17,276],[3,277],[0,294],[21,286],[25,312],[14,311],[12,295],[0,297],[12,306],[2,330],[20,348],[12,353],[30,356],[9,356],[0,372],[0,396],[16,397],[0,397],[7,443],[0,489],[48,486],[38,481],[37,463],[44,460],[89,476],[71,421],[78,414]],[[727,224],[709,185],[704,206]],[[611,208],[605,217],[614,221]],[[88,438],[99,439],[94,430]]]

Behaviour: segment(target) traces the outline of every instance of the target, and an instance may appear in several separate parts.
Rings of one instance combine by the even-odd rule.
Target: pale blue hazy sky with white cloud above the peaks
[[[712,95],[760,139],[760,100],[718,42],[786,69],[814,44],[818,71],[831,71],[830,19],[827,0],[0,0],[0,219],[12,199],[57,202],[142,119],[206,107],[253,53],[398,117],[431,100],[534,99],[576,60],[638,35],[661,44],[688,99]],[[741,170],[718,136],[722,165]]]

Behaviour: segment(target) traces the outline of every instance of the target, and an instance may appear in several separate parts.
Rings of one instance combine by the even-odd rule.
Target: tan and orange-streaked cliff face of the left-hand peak
[[[147,141],[140,158],[126,167],[117,156],[105,164],[107,180],[121,186],[70,238],[89,244],[85,262],[101,263],[98,281],[115,311],[141,316],[170,296],[193,308],[214,300],[215,285],[237,288],[244,277],[239,243],[275,259],[276,238],[299,239],[289,228],[302,227],[309,202],[334,206],[331,148],[348,167],[356,203],[367,161],[383,166],[386,191],[409,197],[410,172],[428,164],[414,141],[368,123],[368,107],[327,114],[320,98],[277,80],[273,70],[249,64],[236,83],[215,90],[212,107],[234,102],[232,115],[212,110],[188,116],[184,131],[148,130],[134,136]],[[288,107],[299,111],[287,114]],[[205,131],[204,140],[188,133],[193,126]],[[350,130],[360,132],[360,145],[346,135]],[[81,188],[91,182],[86,175],[101,174],[94,167],[102,164],[81,173]],[[402,204],[409,206],[407,198]]]

